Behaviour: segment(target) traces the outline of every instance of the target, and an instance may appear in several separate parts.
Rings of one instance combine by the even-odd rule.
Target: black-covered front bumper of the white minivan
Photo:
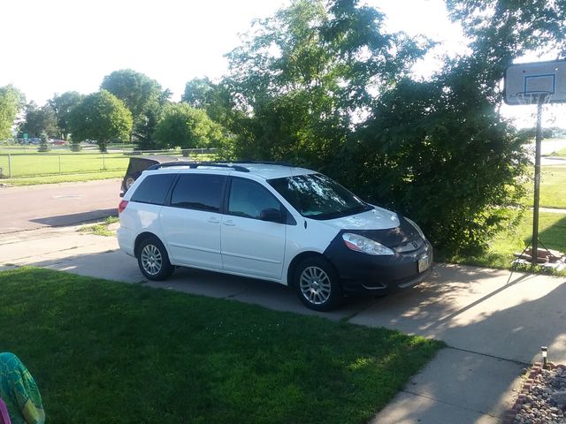
[[[340,236],[337,243],[329,246],[325,256],[338,271],[345,292],[383,295],[407,290],[431,275],[432,245],[428,240],[421,245],[407,253],[371,256],[348,249]]]

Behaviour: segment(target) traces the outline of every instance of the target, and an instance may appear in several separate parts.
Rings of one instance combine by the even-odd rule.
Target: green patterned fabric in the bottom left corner
[[[12,424],[43,424],[42,396],[34,377],[13,353],[0,353],[0,398]]]

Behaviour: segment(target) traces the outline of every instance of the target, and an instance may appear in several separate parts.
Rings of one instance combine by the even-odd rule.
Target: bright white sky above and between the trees
[[[188,80],[226,73],[224,55],[240,45],[252,19],[267,17],[287,2],[1,0],[0,87],[12,84],[27,101],[42,105],[56,93],[93,93],[105,75],[130,68],[157,79],[179,101]],[[438,69],[434,56],[439,52],[465,49],[462,30],[447,19],[442,0],[368,3],[385,12],[387,29],[442,42],[416,65],[417,74]],[[530,126],[532,109],[504,111],[519,117],[519,126]]]

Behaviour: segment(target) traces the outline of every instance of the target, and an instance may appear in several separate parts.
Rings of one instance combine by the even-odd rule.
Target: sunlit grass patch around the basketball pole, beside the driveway
[[[509,269],[514,253],[522,253],[532,239],[532,211],[520,223],[498,234],[484,254],[450,258],[454,263]],[[539,212],[539,240],[549,249],[566,253],[566,214]],[[542,246],[539,246],[542,248]],[[440,254],[441,256],[441,254]],[[562,273],[566,275],[565,273]]]

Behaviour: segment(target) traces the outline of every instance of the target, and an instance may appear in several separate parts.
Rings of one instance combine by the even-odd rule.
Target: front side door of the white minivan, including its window
[[[231,178],[226,215],[222,217],[224,269],[279,280],[285,257],[286,223],[260,219],[262,210],[286,210],[264,186],[247,178]]]

